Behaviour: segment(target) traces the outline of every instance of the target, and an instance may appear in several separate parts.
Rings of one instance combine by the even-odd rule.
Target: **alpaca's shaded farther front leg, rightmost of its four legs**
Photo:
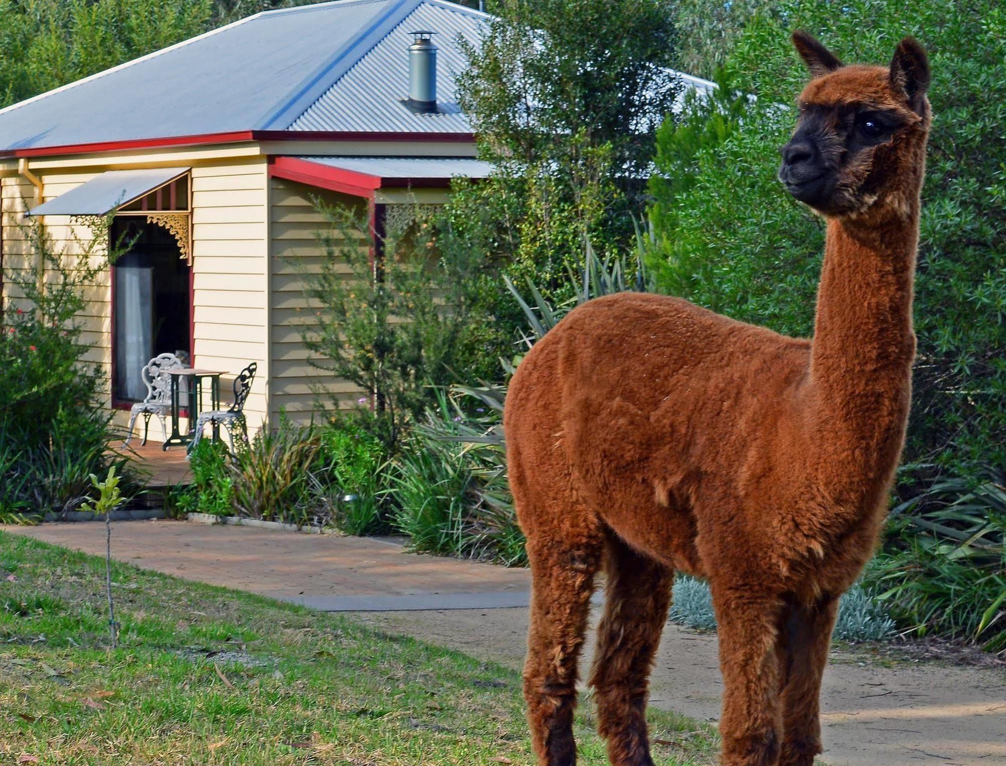
[[[819,699],[828,661],[838,599],[826,596],[812,604],[789,605],[781,620],[778,654],[783,676],[783,754],[780,766],[811,766],[821,752]]]

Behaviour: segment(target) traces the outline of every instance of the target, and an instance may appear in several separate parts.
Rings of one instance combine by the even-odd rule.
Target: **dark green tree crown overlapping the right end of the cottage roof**
[[[459,79],[485,151],[533,165],[577,137],[609,145],[639,178],[678,83],[667,0],[509,0]]]

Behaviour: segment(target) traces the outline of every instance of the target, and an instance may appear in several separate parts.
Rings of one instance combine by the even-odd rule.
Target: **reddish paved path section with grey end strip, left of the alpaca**
[[[105,555],[94,523],[0,527]],[[336,537],[167,520],[112,525],[112,555],[146,569],[324,611],[527,606],[530,576],[404,553],[389,538]]]

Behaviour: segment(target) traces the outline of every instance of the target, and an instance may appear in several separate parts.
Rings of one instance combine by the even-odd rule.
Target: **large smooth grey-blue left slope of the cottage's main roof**
[[[260,13],[3,110],[0,148],[270,128],[414,5],[343,0]]]

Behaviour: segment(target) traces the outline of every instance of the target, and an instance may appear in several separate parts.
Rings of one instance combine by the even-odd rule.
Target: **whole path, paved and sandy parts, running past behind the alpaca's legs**
[[[4,529],[105,551],[101,524]],[[514,668],[523,661],[524,570],[410,555],[388,540],[169,521],[113,525],[113,553],[149,569],[318,608],[366,609],[354,618],[387,632]],[[589,636],[584,667],[592,645]],[[1006,671],[881,666],[834,651],[824,687],[825,760],[832,766],[1006,765]],[[714,720],[720,693],[715,636],[667,625],[651,704]]]

